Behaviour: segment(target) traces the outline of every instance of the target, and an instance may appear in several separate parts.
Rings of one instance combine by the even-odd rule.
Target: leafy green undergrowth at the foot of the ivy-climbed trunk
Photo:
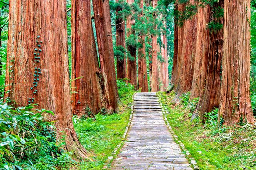
[[[60,149],[53,122],[43,116],[52,111],[0,103],[0,169],[68,169],[75,162]]]

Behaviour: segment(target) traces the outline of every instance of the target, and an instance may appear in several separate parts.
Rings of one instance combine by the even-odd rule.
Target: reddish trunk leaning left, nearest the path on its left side
[[[98,41],[98,51],[100,56],[100,66],[104,77],[106,89],[105,98],[107,108],[110,111],[118,112],[118,92],[116,86],[116,74],[114,67],[114,56],[110,55],[113,45],[108,43],[108,33],[104,18],[103,0],[93,0],[94,21]],[[106,2],[106,1],[105,1]],[[109,9],[109,8],[108,8]],[[107,14],[106,14],[107,15]],[[108,14],[110,15],[110,14]],[[111,47],[109,47],[111,46]]]

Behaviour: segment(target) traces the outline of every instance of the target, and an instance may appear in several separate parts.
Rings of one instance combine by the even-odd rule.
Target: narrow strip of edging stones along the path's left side
[[[134,95],[136,94],[137,92],[135,92],[133,95],[132,95],[132,106],[131,106],[131,113],[130,113],[130,117],[129,117],[129,120],[128,120],[128,123],[125,127],[125,130],[124,130],[124,134],[122,136],[122,142],[120,144],[118,144],[116,146],[116,148],[113,150],[113,152],[111,153],[111,156],[108,156],[108,159],[106,160],[105,162],[105,166],[103,167],[104,170],[108,169],[108,164],[112,163],[113,160],[116,158],[116,155],[118,154],[119,150],[122,148],[122,146],[124,145],[124,141],[126,139],[126,136],[127,136],[127,133],[128,133],[128,130],[129,130],[129,127],[130,127],[130,124],[131,124],[131,121],[132,121],[132,117],[133,117],[133,107],[134,107]]]

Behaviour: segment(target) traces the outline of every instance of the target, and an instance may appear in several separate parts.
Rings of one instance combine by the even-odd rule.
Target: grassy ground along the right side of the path
[[[256,127],[218,127],[218,109],[208,113],[205,125],[190,121],[196,101],[182,97],[180,105],[172,103],[174,94],[160,93],[160,101],[169,111],[167,119],[178,139],[198,162],[200,170],[255,170]]]

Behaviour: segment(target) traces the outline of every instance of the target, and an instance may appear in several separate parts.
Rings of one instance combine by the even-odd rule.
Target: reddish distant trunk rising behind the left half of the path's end
[[[143,4],[144,0],[140,0],[141,14],[143,17]],[[147,74],[147,63],[146,63],[146,52],[145,52],[145,35],[139,35],[139,41],[142,44],[142,48],[138,49],[138,83],[141,92],[148,92],[148,74]]]

